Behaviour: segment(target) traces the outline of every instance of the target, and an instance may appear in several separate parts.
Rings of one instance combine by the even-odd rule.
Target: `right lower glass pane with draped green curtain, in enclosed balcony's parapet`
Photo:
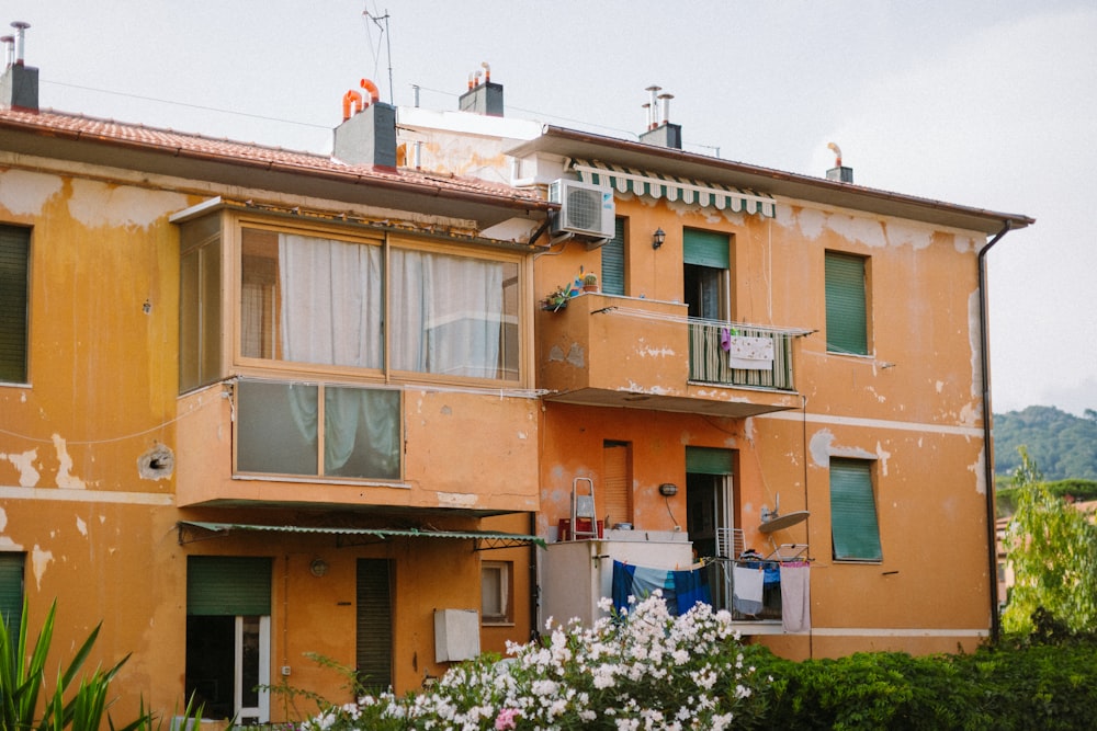
[[[399,391],[325,388],[324,473],[399,479]]]

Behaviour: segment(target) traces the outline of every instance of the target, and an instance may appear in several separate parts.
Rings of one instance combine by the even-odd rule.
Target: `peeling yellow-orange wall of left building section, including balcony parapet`
[[[338,547],[332,536],[298,534],[234,534],[181,546],[180,519],[292,525],[301,517],[301,505],[183,507],[211,498],[301,503],[307,490],[328,507],[536,510],[539,402],[408,390],[400,488],[231,480],[226,389],[178,395],[179,231],[168,216],[204,196],[177,192],[180,181],[150,176],[135,184],[122,171],[64,163],[44,172],[50,167],[0,169],[0,221],[33,227],[31,384],[0,385],[0,550],[26,553],[32,628],[58,602],[49,666],[102,621],[88,666],[133,653],[115,683],[115,720],[129,720],[142,698],[165,713],[181,708],[186,557],[206,553],[273,559],[270,682],[287,665],[293,686],[331,699],[339,699],[343,681],[303,653],[354,664],[358,558],[393,561],[398,693],[444,671],[434,662],[433,610],[479,608],[484,558],[516,562],[513,626],[485,631],[484,647],[501,651],[506,640],[529,637],[529,548],[474,551],[471,539],[433,538]],[[163,448],[173,466],[143,476],[143,456]],[[388,525],[407,519],[389,516]],[[496,521],[499,529],[529,533],[528,514]],[[444,512],[430,522],[482,527]],[[317,557],[329,564],[323,578],[308,571]],[[278,697],[271,715],[286,718]]]

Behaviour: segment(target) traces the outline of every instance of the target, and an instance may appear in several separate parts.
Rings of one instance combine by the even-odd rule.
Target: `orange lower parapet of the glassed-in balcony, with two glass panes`
[[[498,390],[230,378],[179,398],[177,502],[535,512],[538,404]]]

